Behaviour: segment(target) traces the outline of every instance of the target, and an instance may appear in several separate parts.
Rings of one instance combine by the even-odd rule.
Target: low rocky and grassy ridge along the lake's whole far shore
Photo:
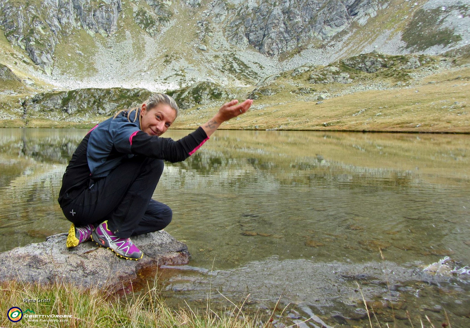
[[[465,58],[366,53],[327,66],[305,64],[245,88],[198,82],[167,91],[180,105],[173,128],[196,128],[229,99],[249,97],[255,99],[250,112],[224,128],[467,131],[470,64],[455,60]],[[149,93],[83,88],[3,95],[11,106],[0,108],[8,118],[0,126],[92,127]]]

